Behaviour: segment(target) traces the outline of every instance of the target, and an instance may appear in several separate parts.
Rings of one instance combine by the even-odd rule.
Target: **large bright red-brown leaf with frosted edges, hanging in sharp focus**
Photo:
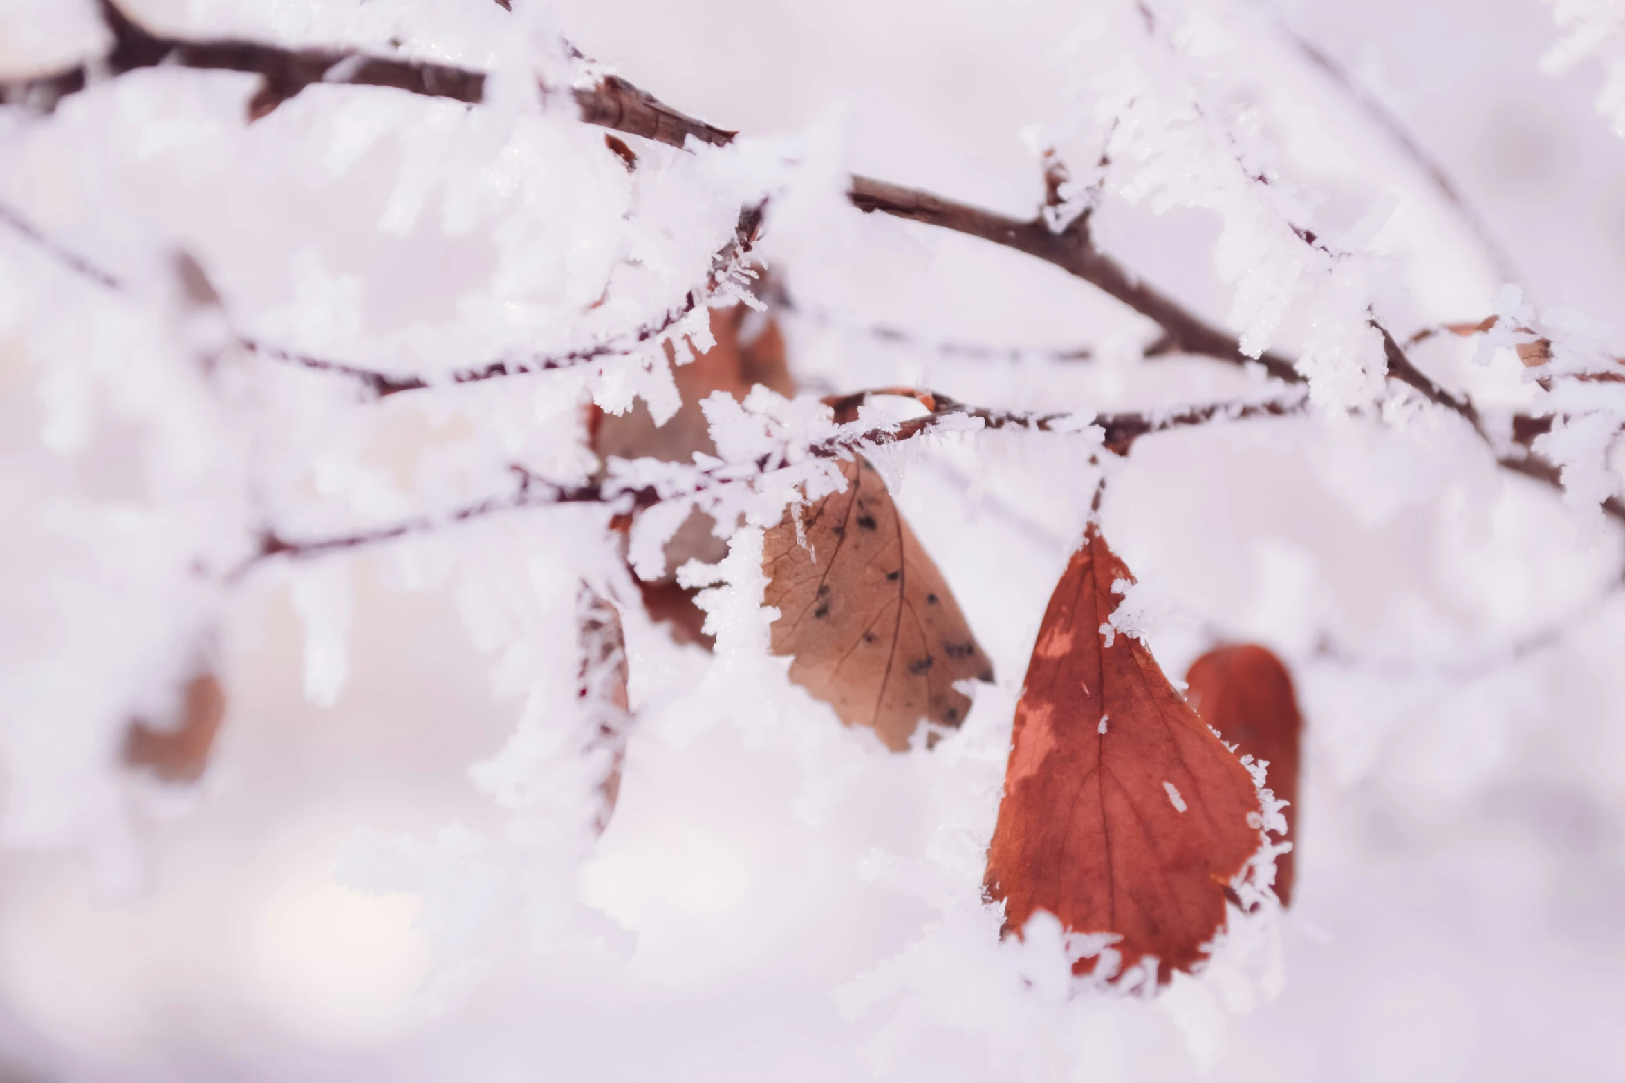
[[[1259,848],[1259,800],[1150,651],[1100,633],[1112,585],[1129,578],[1090,526],[1027,666],[986,890],[1008,934],[1043,909],[1071,932],[1120,937],[1107,977],[1155,956],[1165,982],[1224,927],[1230,883]]]

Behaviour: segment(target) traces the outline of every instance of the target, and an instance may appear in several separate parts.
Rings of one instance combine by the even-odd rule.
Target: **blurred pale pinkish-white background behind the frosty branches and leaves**
[[[132,2],[176,28],[318,41],[351,18],[333,11],[349,0],[325,6]],[[458,23],[504,32],[489,0],[370,6],[354,16],[362,37],[396,28],[427,49]],[[1042,196],[1024,132],[1056,122],[1074,75],[1066,5],[557,0],[548,11],[583,52],[696,117],[795,140],[816,167],[1022,216]],[[1558,39],[1549,6],[1300,2],[1254,15],[1284,21],[1399,120],[1531,299],[1617,321],[1625,140],[1592,109],[1594,65],[1540,71]],[[0,5],[8,71],[93,42],[88,3]],[[448,49],[481,58],[478,45]],[[1258,57],[1261,128],[1282,169],[1324,195],[1324,219],[1347,227],[1394,201],[1375,247],[1391,255],[1396,330],[1487,315],[1502,286],[1495,257],[1428,177],[1300,55]],[[309,133],[343,89],[310,91],[237,135],[247,80],[140,78],[141,94],[102,88],[101,101],[28,122],[57,135],[8,119],[0,193],[84,250],[124,240],[115,218],[133,237],[184,239],[250,323],[327,320],[361,341],[466,318],[458,297],[489,274],[496,242],[434,214],[377,227],[406,135],[384,132],[330,180],[327,135]],[[403,130],[434,123],[416,101],[392,109]],[[214,138],[231,153],[198,149]],[[86,216],[86,201],[102,209]],[[1224,318],[1216,227],[1201,213],[1113,201],[1098,235]],[[11,260],[18,242],[5,245]],[[1139,365],[1108,349],[1102,364],[1058,370],[856,330],[1032,347],[1139,341],[1087,286],[964,237],[786,211],[770,219],[764,252],[800,304],[783,317],[790,360],[814,390],[912,382],[986,404],[1095,409],[1246,386],[1201,362]],[[39,343],[8,334],[0,442],[11,453],[37,443],[46,408],[29,360]],[[1490,398],[1516,396],[1516,382],[1471,370],[1469,352],[1445,343],[1419,360]],[[452,438],[445,417],[388,409],[364,448],[380,471]],[[302,695],[306,632],[289,599],[299,573],[247,580],[224,601],[229,710],[210,773],[184,792],[120,783],[133,835],[120,852],[135,865],[107,875],[84,848],[0,854],[5,1078],[788,1083],[866,1078],[887,1049],[895,1078],[910,1080],[1625,1078],[1625,606],[1606,599],[1622,547],[1617,531],[1584,536],[1532,485],[1461,468],[1474,451],[1451,451],[1453,440],[1420,422],[1175,434],[1142,442],[1113,479],[1113,544],[1186,617],[1154,641],[1168,672],[1216,638],[1264,641],[1295,666],[1308,724],[1298,900],[1280,929],[1285,984],[1250,1010],[1199,982],[1157,1003],[1095,1005],[1034,1031],[1055,1042],[1042,1072],[1001,1060],[998,1036],[910,1007],[907,992],[842,1010],[837,990],[939,919],[876,877],[873,852],[920,861],[944,825],[991,826],[1009,710],[1092,490],[1076,453],[1001,437],[886,464],[998,666],[1001,685],[959,744],[889,757],[800,693],[772,708],[786,718],[777,729],[715,724],[752,705],[704,684],[697,648],[629,619],[632,705],[644,713],[621,804],[578,883],[561,888],[601,911],[606,932],[546,951],[523,938],[460,942],[442,934],[486,917],[356,887],[367,887],[354,872],[367,838],[416,839],[427,852],[439,836],[424,877],[500,878],[500,862],[479,857],[497,843],[470,841],[463,861],[455,831],[509,830],[468,766],[502,749],[517,705],[492,692],[492,659],[470,643],[452,585],[427,575],[405,589],[388,554],[344,557],[349,675],[315,706]],[[1440,447],[1456,458],[1440,466]],[[122,468],[117,450],[91,453],[47,481],[117,490]],[[24,508],[23,533],[31,505],[13,507]],[[8,542],[5,560],[0,606],[24,598],[42,559]],[[5,649],[28,658],[29,627],[8,620]],[[1511,658],[1550,627],[1562,636]],[[837,736],[809,760],[791,726]],[[13,773],[16,757],[13,745]],[[522,856],[512,861],[522,877]],[[455,898],[478,909],[505,896],[492,887]]]

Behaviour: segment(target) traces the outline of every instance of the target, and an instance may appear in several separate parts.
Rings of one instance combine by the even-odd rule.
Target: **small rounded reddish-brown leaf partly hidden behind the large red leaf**
[[[1287,841],[1292,851],[1276,857],[1276,896],[1292,901],[1294,851],[1298,838],[1298,745],[1303,716],[1292,693],[1292,677],[1263,646],[1220,646],[1207,651],[1185,675],[1185,698],[1202,721],[1237,745],[1238,755],[1266,762],[1266,786],[1287,802]]]

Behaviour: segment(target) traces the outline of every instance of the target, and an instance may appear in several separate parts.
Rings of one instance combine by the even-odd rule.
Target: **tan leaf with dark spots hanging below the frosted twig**
[[[803,515],[806,544],[796,508],[767,531],[774,653],[843,723],[904,750],[921,718],[957,727],[970,698],[954,682],[993,680],[993,667],[881,476],[863,460],[840,469],[847,490]]]

